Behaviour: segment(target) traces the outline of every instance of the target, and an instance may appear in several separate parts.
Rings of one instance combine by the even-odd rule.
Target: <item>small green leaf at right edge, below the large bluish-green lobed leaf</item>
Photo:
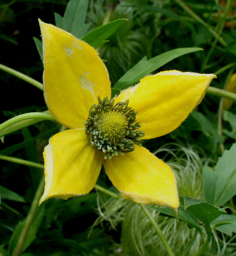
[[[222,214],[212,221],[211,226],[228,236],[232,236],[233,232],[236,233],[236,216],[231,214]]]

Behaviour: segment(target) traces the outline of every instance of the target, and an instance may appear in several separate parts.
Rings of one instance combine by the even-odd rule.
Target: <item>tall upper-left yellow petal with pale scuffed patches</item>
[[[91,106],[111,95],[107,69],[94,48],[70,33],[40,22],[44,55],[44,97],[53,116],[82,128]]]

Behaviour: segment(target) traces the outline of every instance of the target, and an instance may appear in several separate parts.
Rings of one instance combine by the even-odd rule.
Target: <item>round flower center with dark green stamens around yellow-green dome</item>
[[[134,144],[140,145],[139,138],[144,137],[144,132],[138,131],[141,125],[135,123],[138,112],[128,107],[129,100],[114,103],[115,100],[108,100],[108,97],[101,100],[98,96],[98,105],[90,108],[84,123],[90,144],[102,150],[105,159],[108,154],[111,159],[118,153],[124,155],[134,151]]]

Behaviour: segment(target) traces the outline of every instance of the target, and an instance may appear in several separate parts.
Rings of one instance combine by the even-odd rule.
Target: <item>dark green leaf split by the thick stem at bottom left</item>
[[[24,239],[24,244],[22,247],[22,252],[25,251],[30,244],[32,243],[32,241],[34,241],[34,239],[36,238],[36,234],[38,232],[38,228],[40,227],[40,224],[42,222],[42,218],[44,216],[44,207],[40,207],[40,210],[38,212],[38,215],[36,216],[36,218],[34,219],[34,221],[31,223],[30,228],[26,234],[26,237]],[[16,229],[14,230],[10,242],[9,242],[9,254],[11,255],[13,250],[16,247],[16,243],[20,237],[20,234],[22,232],[22,229],[24,227],[25,224],[25,220],[19,222],[19,224],[17,225]]]

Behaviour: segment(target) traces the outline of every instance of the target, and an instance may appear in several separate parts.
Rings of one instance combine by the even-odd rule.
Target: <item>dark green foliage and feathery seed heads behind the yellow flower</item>
[[[179,128],[144,142],[175,172],[181,195],[179,219],[173,217],[171,209],[155,205],[146,207],[151,213],[148,218],[139,205],[118,196],[103,171],[90,194],[68,201],[49,199],[35,207],[40,196],[36,191],[43,187],[43,148],[61,125],[44,120],[21,129],[0,126],[4,142],[0,144],[0,255],[170,255],[151,219],[174,255],[236,255],[236,105],[229,101],[236,97],[220,97],[226,96],[225,90],[234,93],[236,88],[235,1],[70,3],[78,8],[80,2],[88,3],[88,7],[85,4],[74,22],[78,22],[78,28],[88,25],[84,33],[75,31],[78,38],[108,22],[128,20],[96,47],[108,68],[113,93],[136,83],[139,69],[135,65],[144,56],[150,60],[176,48],[193,47],[203,50],[188,54],[183,50],[179,57],[155,59],[155,65],[143,59],[141,71],[148,67],[147,74],[172,69],[214,73],[218,79],[211,85],[224,91],[208,90],[200,106]],[[67,3],[0,1],[0,63],[42,82],[38,18],[56,24],[54,13],[59,22]],[[67,14],[70,12],[73,8],[68,5]],[[137,77],[123,82],[121,78],[132,67]],[[5,72],[3,66],[0,69],[3,122],[19,114],[47,110],[39,88]]]

